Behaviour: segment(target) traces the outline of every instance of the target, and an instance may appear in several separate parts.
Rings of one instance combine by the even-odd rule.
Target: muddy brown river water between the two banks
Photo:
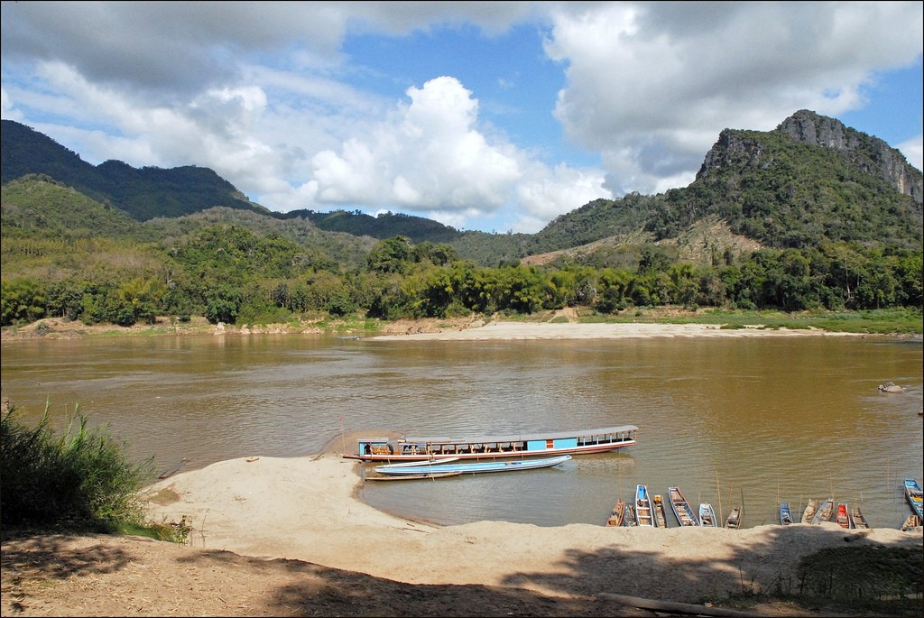
[[[910,513],[922,480],[920,339],[377,341],[327,335],[13,341],[2,390],[32,422],[75,406],[155,471],[319,452],[349,431],[535,433],[632,424],[638,443],[541,470],[367,483],[360,497],[418,520],[602,525],[638,483],[678,486],[743,526],[780,502],[858,503],[873,527]],[[882,393],[892,381],[901,394]],[[335,443],[335,442],[334,442]],[[268,504],[268,508],[272,505]],[[668,514],[669,525],[676,526]]]

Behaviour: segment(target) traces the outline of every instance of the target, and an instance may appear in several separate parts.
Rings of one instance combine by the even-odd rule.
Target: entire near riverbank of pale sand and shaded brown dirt
[[[834,523],[432,526],[361,503],[361,464],[333,449],[254,454],[153,484],[144,493],[152,518],[185,517],[186,547],[111,537],[5,541],[4,615],[650,615],[608,595],[702,603],[796,593],[799,560],[845,541],[922,550],[919,528],[858,532]],[[49,561],[44,577],[30,579],[39,555]],[[22,609],[11,613],[14,601]],[[752,611],[836,615],[778,602]]]

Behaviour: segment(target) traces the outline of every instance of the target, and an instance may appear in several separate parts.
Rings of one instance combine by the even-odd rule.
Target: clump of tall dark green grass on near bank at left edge
[[[77,407],[67,430],[50,427],[49,406],[29,428],[0,417],[0,524],[9,528],[114,532],[144,525],[139,490],[153,459],[133,464],[126,445],[107,430],[90,430]]]

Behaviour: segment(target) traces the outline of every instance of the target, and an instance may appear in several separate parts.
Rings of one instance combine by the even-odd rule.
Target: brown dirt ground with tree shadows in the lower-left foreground
[[[426,586],[299,560],[138,537],[4,544],[4,616],[650,615],[592,598],[490,586]]]

